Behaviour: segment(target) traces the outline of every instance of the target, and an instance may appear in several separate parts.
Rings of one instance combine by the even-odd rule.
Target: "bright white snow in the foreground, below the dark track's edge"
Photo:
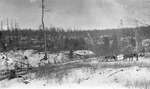
[[[48,88],[99,88],[99,89],[134,89],[129,83],[150,81],[150,69],[137,66],[129,68],[104,68],[92,71],[88,68],[71,69],[62,80],[57,78],[27,79],[28,84],[21,78],[3,80],[1,89],[48,89]],[[59,76],[58,76],[59,77]],[[135,88],[138,89],[138,88]]]

